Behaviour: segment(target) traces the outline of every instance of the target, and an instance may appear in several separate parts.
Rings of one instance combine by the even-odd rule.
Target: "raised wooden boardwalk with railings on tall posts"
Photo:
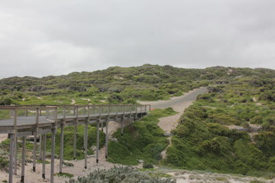
[[[63,105],[63,106],[0,106],[0,134],[9,134],[10,162],[9,182],[17,174],[17,138],[22,137],[21,182],[25,178],[25,141],[27,136],[34,137],[33,171],[36,171],[37,138],[41,145],[42,177],[45,179],[45,141],[46,134],[52,134],[50,181],[54,182],[55,134],[61,128],[61,151],[59,173],[62,173],[65,126],[74,126],[74,159],[76,158],[76,132],[78,125],[85,125],[84,149],[87,169],[88,125],[96,123],[96,162],[99,160],[99,128],[106,125],[105,158],[108,157],[108,122],[121,123],[121,133],[125,121],[135,121],[151,110],[150,105]]]

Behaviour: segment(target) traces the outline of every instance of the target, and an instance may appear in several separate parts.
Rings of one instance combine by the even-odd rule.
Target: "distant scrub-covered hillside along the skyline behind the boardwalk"
[[[135,103],[179,96],[208,84],[239,76],[274,77],[271,69],[181,69],[173,66],[113,66],[102,71],[47,77],[9,77],[0,80],[0,104]],[[73,100],[72,100],[73,99]]]

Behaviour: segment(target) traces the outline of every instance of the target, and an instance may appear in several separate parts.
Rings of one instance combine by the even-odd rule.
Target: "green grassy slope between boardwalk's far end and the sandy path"
[[[157,125],[158,119],[174,115],[172,108],[164,110],[156,109],[150,112],[140,121],[124,128],[124,135],[120,136],[120,130],[113,136],[118,142],[109,142],[109,161],[119,164],[139,164],[138,160],[156,163],[160,159],[160,153],[168,145],[164,131]]]

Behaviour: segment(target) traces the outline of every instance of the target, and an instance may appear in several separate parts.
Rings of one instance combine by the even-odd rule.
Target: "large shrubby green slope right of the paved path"
[[[166,163],[184,169],[273,176],[274,84],[274,79],[239,77],[200,95],[181,117]],[[263,129],[250,138],[248,123]],[[247,129],[236,132],[225,125]]]

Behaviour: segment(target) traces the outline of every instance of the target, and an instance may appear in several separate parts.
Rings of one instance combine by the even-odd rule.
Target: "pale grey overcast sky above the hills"
[[[3,0],[0,23],[0,78],[146,63],[275,69],[274,0]]]

